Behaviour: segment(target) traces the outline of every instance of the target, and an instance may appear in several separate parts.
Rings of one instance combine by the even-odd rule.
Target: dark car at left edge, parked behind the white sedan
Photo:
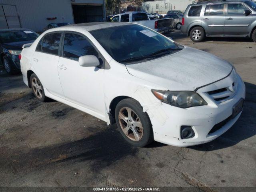
[[[20,71],[19,54],[22,46],[34,42],[38,36],[30,29],[0,30],[0,58],[8,74]]]

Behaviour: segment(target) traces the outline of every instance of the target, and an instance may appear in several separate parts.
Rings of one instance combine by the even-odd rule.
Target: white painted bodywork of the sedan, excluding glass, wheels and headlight
[[[74,25],[50,29],[22,50],[21,71],[28,86],[27,72],[33,71],[44,86],[45,95],[54,100],[96,116],[110,124],[110,104],[118,96],[137,100],[152,123],[154,140],[174,146],[192,146],[214,140],[226,132],[239,118],[229,120],[213,134],[212,127],[232,114],[234,104],[245,98],[245,86],[232,66],[211,54],[193,48],[148,62],[120,64],[114,60],[90,30],[127,23]],[[74,31],[84,34],[105,58],[105,69],[82,67],[78,61],[35,51],[40,39],[49,32]],[[167,38],[168,39],[168,38]],[[168,39],[169,40],[169,39]],[[172,40],[170,40],[172,41]],[[37,57],[38,61],[33,59]],[[64,70],[63,68],[66,68]],[[207,92],[228,88],[236,82],[230,99],[215,101]],[[158,100],[151,90],[192,90],[208,103],[205,106],[179,108]],[[195,136],[181,139],[180,126],[191,125]]]

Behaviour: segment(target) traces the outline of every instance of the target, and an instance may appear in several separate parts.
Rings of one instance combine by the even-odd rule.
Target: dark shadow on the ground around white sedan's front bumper
[[[243,112],[238,121],[227,132],[212,142],[188,148],[199,151],[219,150],[234,146],[239,142],[256,135],[254,122],[256,119],[256,85],[248,82],[245,82],[244,84],[246,86],[246,98],[244,101]]]

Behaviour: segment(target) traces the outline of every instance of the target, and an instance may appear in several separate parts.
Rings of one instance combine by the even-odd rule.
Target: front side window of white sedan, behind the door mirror
[[[98,52],[84,36],[74,33],[66,33],[63,45],[63,56],[69,59],[78,60],[80,56],[95,55]]]

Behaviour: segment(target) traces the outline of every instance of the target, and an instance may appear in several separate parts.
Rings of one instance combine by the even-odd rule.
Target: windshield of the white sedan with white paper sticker
[[[153,30],[134,24],[94,30],[90,33],[120,63],[153,59],[183,48]]]

